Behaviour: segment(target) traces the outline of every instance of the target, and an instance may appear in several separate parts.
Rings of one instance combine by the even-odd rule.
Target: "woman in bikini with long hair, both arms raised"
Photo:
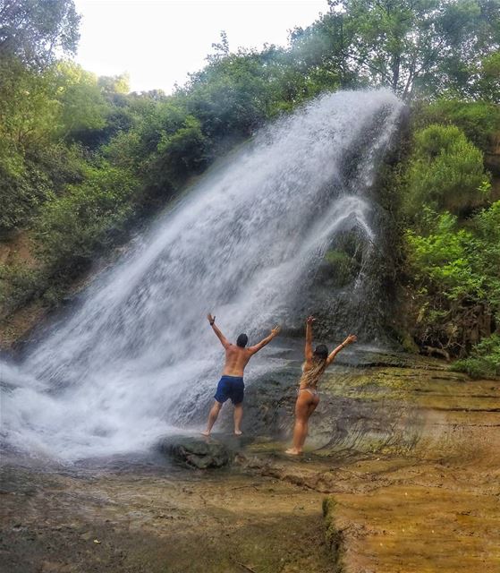
[[[312,349],[312,323],[315,321],[309,316],[306,321],[306,362],[302,365],[302,376],[295,402],[295,427],[293,428],[293,447],[285,453],[298,456],[302,453],[304,442],[308,435],[308,423],[310,415],[316,410],[319,403],[318,380],[321,378],[326,367],[333,363],[335,356],[352,342],[356,342],[355,335],[350,334],[342,344],[337,346],[330,354],[324,344]]]

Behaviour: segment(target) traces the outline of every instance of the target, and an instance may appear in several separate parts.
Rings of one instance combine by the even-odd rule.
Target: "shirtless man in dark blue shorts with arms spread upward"
[[[275,326],[275,328],[271,330],[271,334],[269,334],[269,336],[261,340],[255,346],[249,346],[247,348],[246,346],[249,338],[246,334],[241,334],[237,338],[235,345],[231,344],[231,342],[225,338],[220,329],[217,328],[216,317],[208,314],[207,318],[210,326],[214,329],[217,338],[221,341],[222,346],[225,347],[225,367],[222,372],[222,378],[217,385],[216,396],[214,397],[216,398],[216,401],[208,415],[207,430],[201,433],[204,436],[210,435],[212,426],[216,423],[217,416],[219,415],[222,406],[227,398],[231,398],[234,406],[234,433],[237,436],[241,436],[242,429],[240,426],[242,424],[243,417],[242,402],[245,389],[245,385],[243,383],[243,371],[245,370],[245,366],[249,362],[250,358],[258,353],[260,348],[263,348],[268,342],[271,342],[271,340],[275,338],[280,331],[280,327]]]

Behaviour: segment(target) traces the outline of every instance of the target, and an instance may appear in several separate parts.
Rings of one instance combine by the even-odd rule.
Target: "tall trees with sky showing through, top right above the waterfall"
[[[330,12],[292,43],[329,61],[343,84],[387,86],[406,99],[466,90],[500,47],[499,0],[329,0]]]

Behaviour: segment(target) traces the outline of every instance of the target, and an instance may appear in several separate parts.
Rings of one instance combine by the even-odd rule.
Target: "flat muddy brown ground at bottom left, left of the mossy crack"
[[[16,467],[2,487],[5,573],[333,570],[322,494],[273,478]]]

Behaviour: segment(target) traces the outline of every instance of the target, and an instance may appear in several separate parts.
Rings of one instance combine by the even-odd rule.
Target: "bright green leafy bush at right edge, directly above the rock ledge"
[[[405,233],[418,338],[465,355],[500,323],[500,201],[470,219],[428,210],[427,234]]]

